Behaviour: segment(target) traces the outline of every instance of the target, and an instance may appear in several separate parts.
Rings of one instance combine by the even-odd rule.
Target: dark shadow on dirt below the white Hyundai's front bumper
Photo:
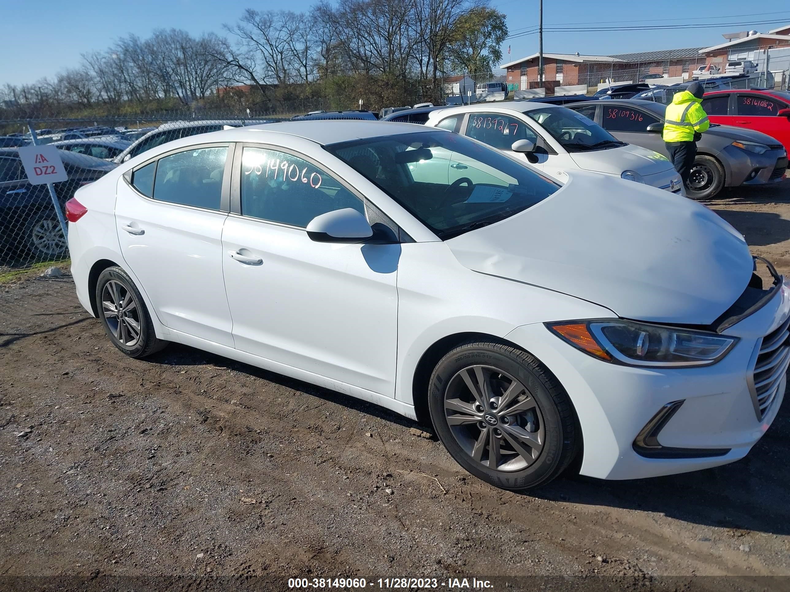
[[[753,418],[751,418],[753,419]],[[527,495],[650,511],[690,523],[790,534],[790,410],[787,404],[745,459],[713,469],[633,481],[562,478]]]

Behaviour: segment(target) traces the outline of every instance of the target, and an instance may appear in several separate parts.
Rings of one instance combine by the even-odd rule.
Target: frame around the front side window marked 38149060
[[[399,237],[398,242],[412,242],[412,239],[408,237],[408,234],[392,219],[389,215],[382,212],[381,208],[378,208],[376,204],[371,202],[371,200],[367,199],[359,189],[356,189],[351,183],[346,181],[340,174],[337,173],[335,170],[328,170],[328,167],[325,163],[319,163],[318,160],[303,154],[295,150],[294,148],[290,148],[288,146],[277,146],[276,144],[268,144],[265,142],[236,142],[235,150],[233,153],[233,162],[231,164],[231,174],[229,175],[231,179],[230,185],[230,202],[228,208],[228,215],[232,216],[233,218],[239,218],[243,220],[249,220],[251,222],[261,223],[261,224],[272,224],[273,226],[279,226],[284,228],[292,228],[294,230],[302,230],[305,234],[307,234],[307,228],[293,226],[292,224],[286,224],[282,222],[275,222],[273,220],[265,220],[262,218],[256,218],[251,215],[243,215],[242,213],[242,202],[241,202],[241,171],[242,171],[242,153],[244,148],[260,148],[261,150],[273,150],[275,152],[284,152],[285,154],[289,154],[294,156],[298,159],[303,159],[305,162],[312,164],[314,167],[318,168],[319,170],[325,171],[326,174],[330,174],[332,178],[339,182],[340,185],[349,192],[352,193],[354,197],[356,197],[359,201],[362,202],[362,206],[365,209],[365,217],[367,218],[368,223],[373,226],[374,223],[381,222],[384,223],[386,227],[389,227],[390,230],[393,231],[395,236]],[[327,152],[327,154],[330,154]],[[334,155],[333,155],[334,156]],[[337,157],[335,157],[337,158]],[[338,159],[339,160],[339,159]],[[226,168],[226,173],[228,169]]]

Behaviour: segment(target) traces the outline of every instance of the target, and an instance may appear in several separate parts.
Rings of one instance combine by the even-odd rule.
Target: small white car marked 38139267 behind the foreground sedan
[[[433,111],[426,126],[440,127],[509,152],[545,174],[566,182],[571,170],[592,170],[683,194],[672,163],[653,150],[618,141],[585,115],[559,105],[514,101]],[[459,162],[450,182],[471,178]]]

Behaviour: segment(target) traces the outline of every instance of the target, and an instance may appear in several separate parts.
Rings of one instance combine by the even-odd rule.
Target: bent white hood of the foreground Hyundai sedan
[[[633,320],[710,324],[754,268],[713,211],[632,181],[568,171],[529,210],[446,242],[465,267],[583,298]],[[529,306],[529,302],[525,302]]]

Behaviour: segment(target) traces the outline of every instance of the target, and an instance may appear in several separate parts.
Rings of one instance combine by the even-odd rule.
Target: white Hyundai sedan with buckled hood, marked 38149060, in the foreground
[[[784,395],[790,291],[716,214],[446,130],[188,137],[66,209],[77,295],[125,354],[186,343],[431,421],[498,487],[577,455],[611,479],[731,463]]]

